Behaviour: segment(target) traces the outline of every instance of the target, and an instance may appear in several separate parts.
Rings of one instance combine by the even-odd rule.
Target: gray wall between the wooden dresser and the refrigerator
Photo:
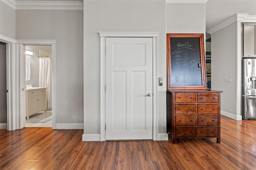
[[[221,111],[232,115],[237,112],[237,65],[241,64],[237,63],[236,24],[234,22],[211,35],[212,89],[223,91]],[[232,82],[224,82],[227,78],[231,78]]]

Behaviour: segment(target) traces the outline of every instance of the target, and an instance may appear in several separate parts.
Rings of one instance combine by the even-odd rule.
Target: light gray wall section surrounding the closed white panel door
[[[100,37],[102,31],[160,32],[158,41],[159,133],[166,133],[165,1],[84,1],[84,134],[100,134]]]

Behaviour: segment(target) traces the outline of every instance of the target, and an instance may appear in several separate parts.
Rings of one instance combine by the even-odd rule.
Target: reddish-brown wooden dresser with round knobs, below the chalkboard
[[[217,138],[220,143],[220,93],[167,90],[167,132],[176,138]]]

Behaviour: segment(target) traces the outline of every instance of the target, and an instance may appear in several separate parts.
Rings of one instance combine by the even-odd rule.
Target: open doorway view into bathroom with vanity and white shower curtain
[[[52,45],[25,48],[25,127],[52,127]]]

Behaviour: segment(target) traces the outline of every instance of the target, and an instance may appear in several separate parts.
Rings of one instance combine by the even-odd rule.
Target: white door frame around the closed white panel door
[[[157,58],[159,32],[99,32],[100,34],[100,141],[106,141],[106,38],[152,38],[153,40],[153,140],[158,140]]]

